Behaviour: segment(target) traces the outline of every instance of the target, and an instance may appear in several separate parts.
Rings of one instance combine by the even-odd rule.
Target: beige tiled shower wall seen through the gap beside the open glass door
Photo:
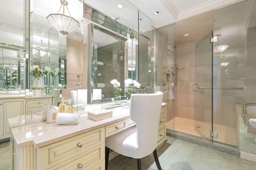
[[[187,119],[195,117],[195,96],[192,90],[194,83],[195,72],[195,43],[192,41],[176,45],[176,64],[177,67],[183,67],[184,70],[176,70],[177,84],[175,85],[176,92],[176,111],[175,116]]]

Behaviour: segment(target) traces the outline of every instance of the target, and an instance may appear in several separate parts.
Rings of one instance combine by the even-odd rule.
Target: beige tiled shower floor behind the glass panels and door
[[[173,125],[174,123],[174,125]],[[203,127],[201,130],[203,134],[209,134],[212,124],[207,122],[197,122],[197,126]],[[171,129],[183,133],[187,133],[190,135],[195,135],[202,137],[196,130],[195,130],[195,121],[193,119],[186,119],[182,117],[175,117],[174,121],[171,120],[166,123],[166,128]],[[236,128],[229,127],[225,125],[218,125],[214,124],[214,131],[218,132],[218,138],[214,138],[214,142],[221,143],[223,145],[228,145],[231,147],[237,146],[237,136],[236,136]]]

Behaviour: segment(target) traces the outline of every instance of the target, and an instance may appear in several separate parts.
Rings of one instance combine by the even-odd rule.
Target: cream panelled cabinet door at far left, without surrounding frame
[[[3,112],[4,112],[4,134],[3,134],[3,136],[5,136],[6,134],[10,134],[8,119],[17,117],[18,115],[23,115],[24,100],[2,102],[2,106],[3,106]]]

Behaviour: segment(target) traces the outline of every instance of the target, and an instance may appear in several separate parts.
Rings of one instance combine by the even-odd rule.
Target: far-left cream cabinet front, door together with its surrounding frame
[[[10,137],[8,119],[24,114],[25,98],[0,100],[0,140]]]

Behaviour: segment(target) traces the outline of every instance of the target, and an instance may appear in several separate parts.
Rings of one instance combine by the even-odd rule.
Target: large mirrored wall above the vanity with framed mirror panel
[[[0,9],[6,15],[0,19],[0,91],[34,90],[34,77],[30,73],[33,66],[42,70],[49,67],[58,75],[42,76],[42,96],[47,96],[48,89],[53,92],[61,89],[62,97],[68,100],[70,90],[87,89],[88,95],[83,96],[87,104],[110,102],[115,90],[110,83],[112,79],[117,79],[123,90],[125,79],[140,81],[140,45],[147,59],[140,65],[150,69],[151,21],[127,0],[87,0],[86,3],[68,0],[69,13],[80,27],[67,35],[46,20],[49,14],[58,12],[60,0],[14,0],[2,4]],[[109,10],[109,5],[104,4],[113,4],[114,9]],[[140,26],[139,15],[143,18]],[[144,40],[139,41],[140,37]],[[145,86],[151,85],[148,80],[141,81]],[[101,89],[100,100],[95,98],[93,89]],[[26,94],[24,98],[31,100]]]

